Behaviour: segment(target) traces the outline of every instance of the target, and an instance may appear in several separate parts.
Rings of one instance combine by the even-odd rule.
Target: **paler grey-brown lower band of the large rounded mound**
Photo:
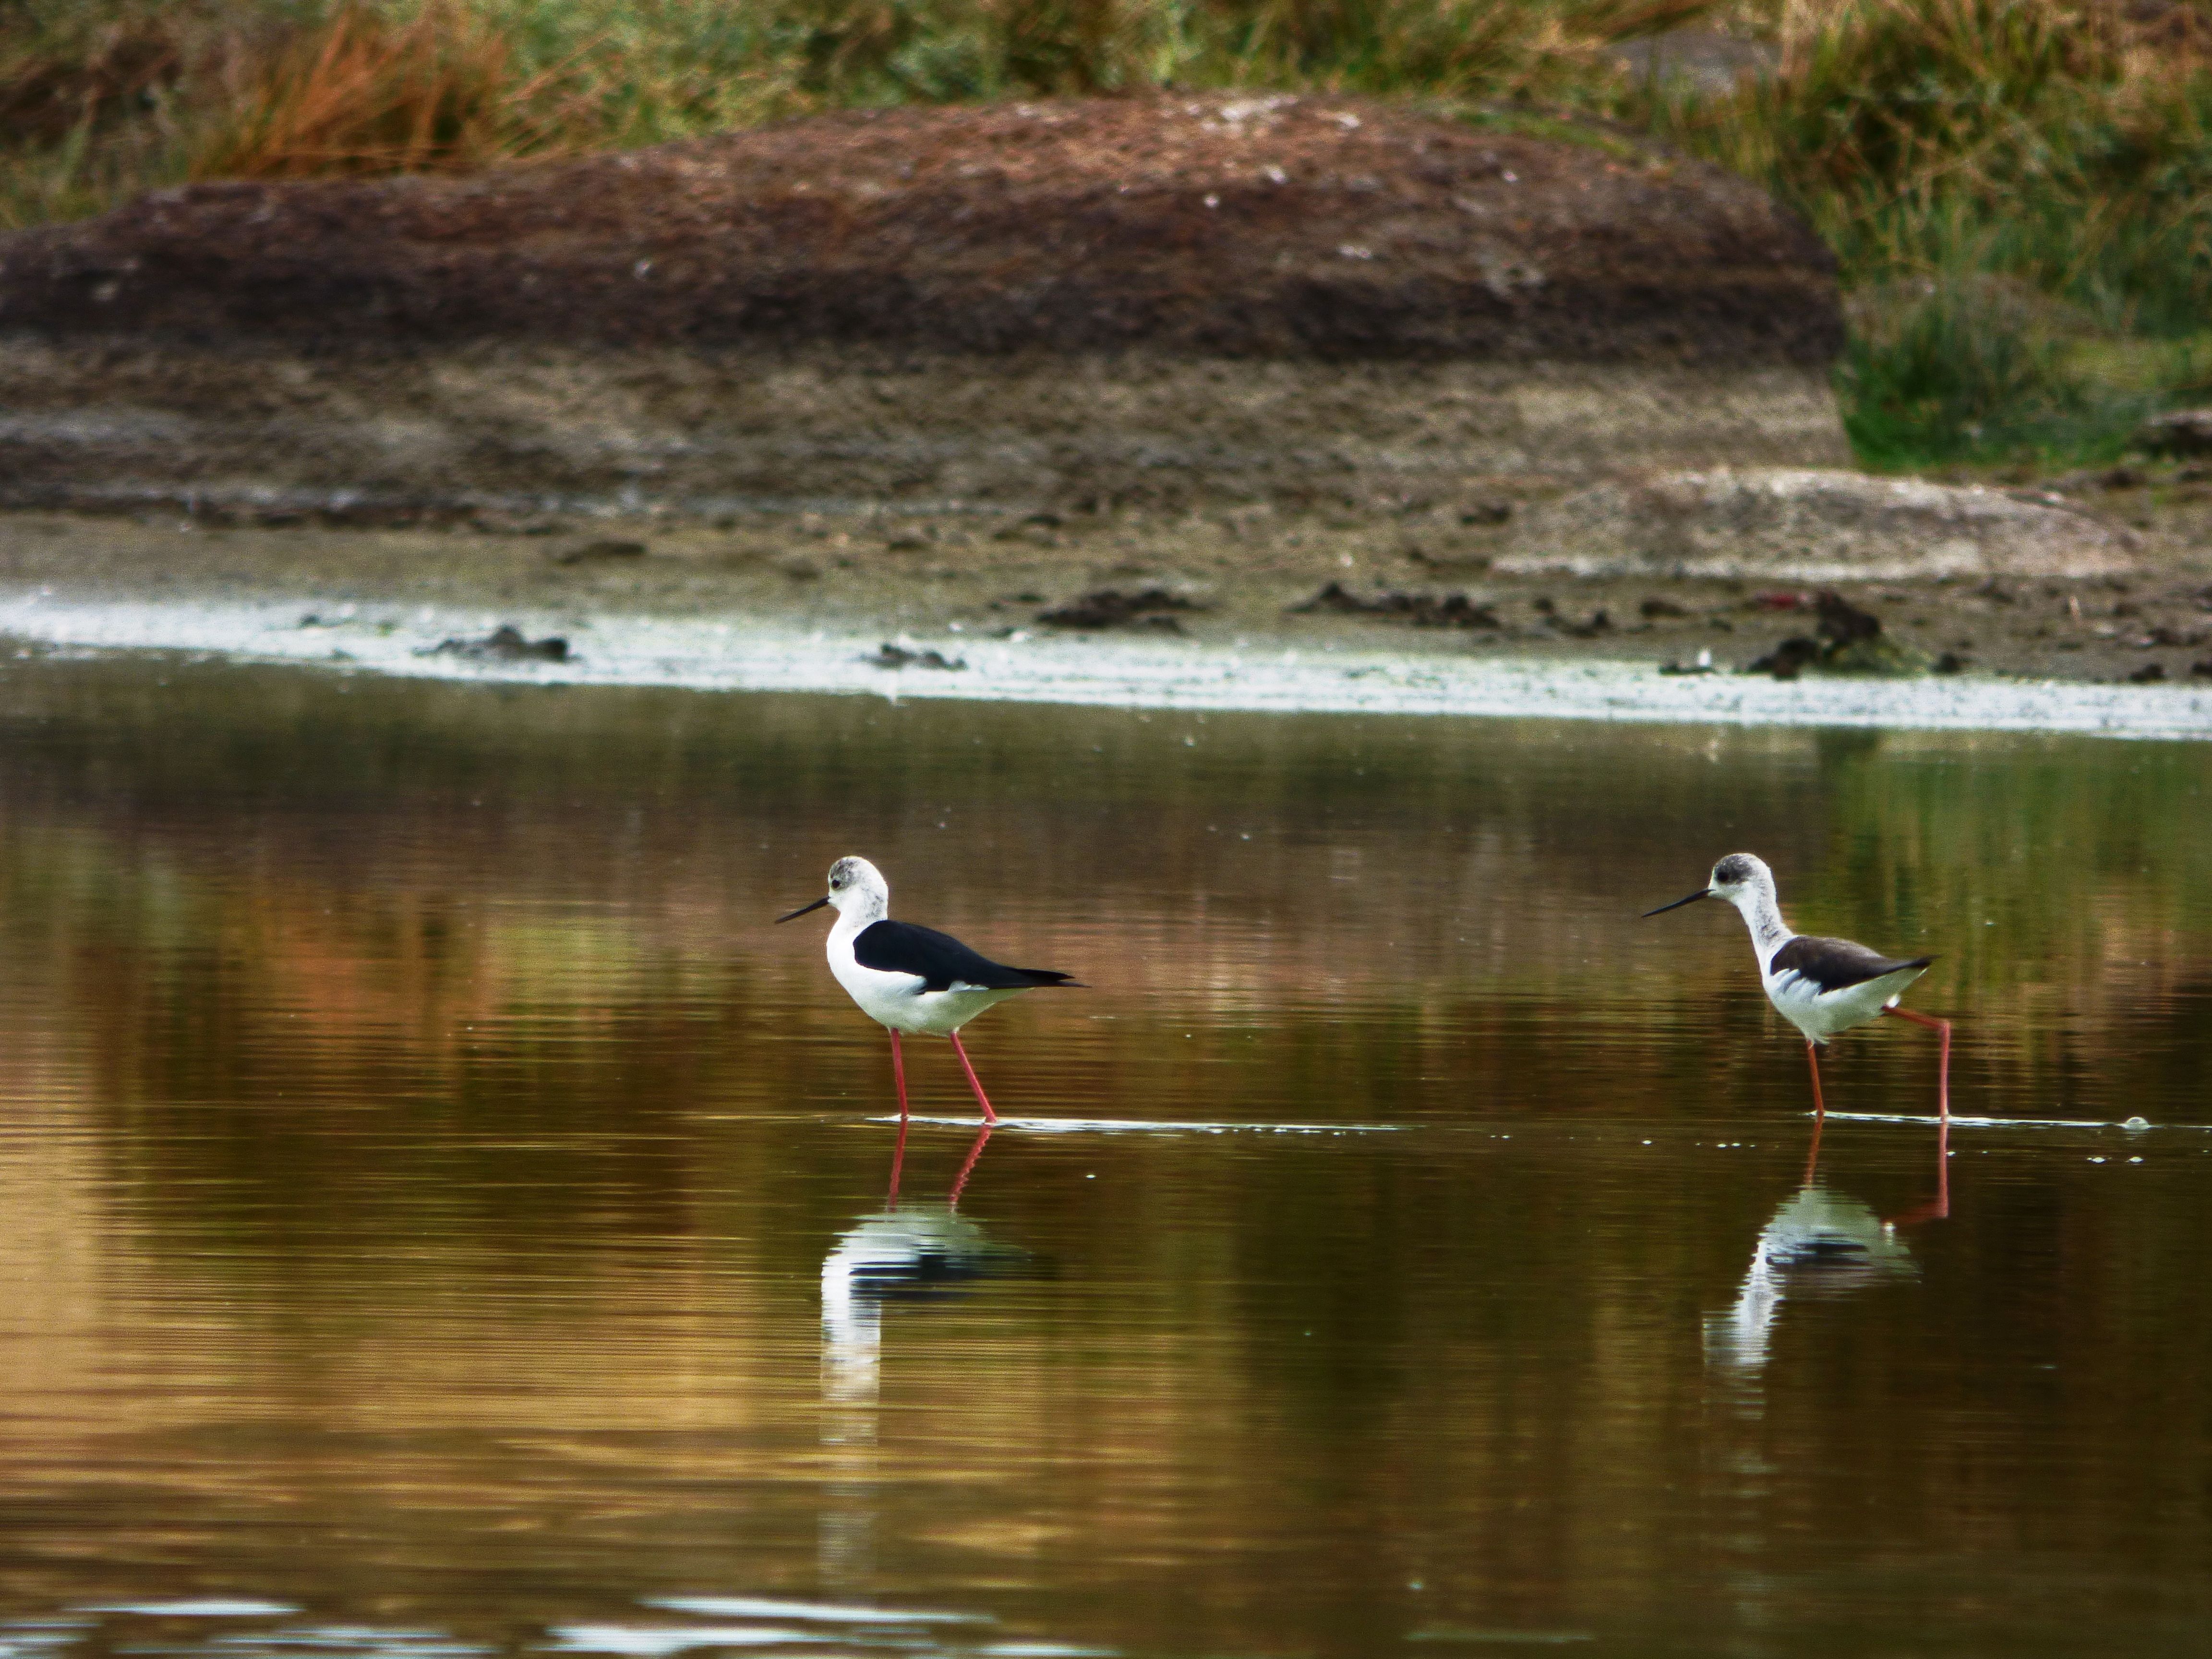
[[[1845,465],[1820,369],[1000,358],[832,345],[372,361],[144,338],[0,345],[0,507],[157,500],[392,522],[573,511],[1400,513],[1613,467]],[[1442,526],[1440,526],[1440,533]]]

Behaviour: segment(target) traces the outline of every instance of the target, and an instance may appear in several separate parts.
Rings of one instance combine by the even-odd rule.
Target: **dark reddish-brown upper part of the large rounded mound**
[[[0,330],[1823,365],[1761,190],[1352,97],[905,108],[467,179],[201,184],[0,237]]]

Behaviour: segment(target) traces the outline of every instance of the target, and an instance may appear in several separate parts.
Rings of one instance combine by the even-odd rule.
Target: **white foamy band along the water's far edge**
[[[303,617],[316,613],[312,626]],[[568,661],[427,655],[513,624],[568,639]],[[1648,664],[1214,646],[1121,637],[931,637],[960,672],[878,668],[880,633],[803,633],[690,617],[573,617],[458,606],[0,597],[0,635],[49,648],[170,650],[234,661],[540,686],[863,692],[905,699],[1338,714],[1462,714],[1730,726],[2212,737],[2212,686],[1661,675]]]

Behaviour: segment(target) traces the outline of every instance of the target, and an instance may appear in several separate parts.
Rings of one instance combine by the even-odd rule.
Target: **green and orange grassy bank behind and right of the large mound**
[[[1683,27],[1745,73],[1632,44]],[[2168,0],[0,0],[0,226],[849,104],[1522,100],[1655,131],[1820,228],[1869,465],[2108,460],[2212,380],[2212,13]]]

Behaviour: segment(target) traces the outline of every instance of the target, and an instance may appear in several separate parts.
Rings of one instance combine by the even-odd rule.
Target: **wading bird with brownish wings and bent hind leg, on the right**
[[[1900,1009],[1905,989],[1929,971],[1933,956],[1896,958],[1869,951],[1847,938],[1812,938],[1792,933],[1774,896],[1774,872],[1747,852],[1732,852],[1712,867],[1712,880],[1672,905],[1644,911],[1659,916],[1699,898],[1725,898],[1752,929],[1759,953],[1759,984],[1783,1020],[1805,1033],[1805,1064],[1812,1066],[1814,1113],[1825,1117],[1820,1102],[1820,1048],[1851,1026],[1863,1026],[1885,1013],[1911,1020],[1942,1037],[1938,1062],[1936,1115],[1951,1119],[1951,1022],[1911,1009]]]

